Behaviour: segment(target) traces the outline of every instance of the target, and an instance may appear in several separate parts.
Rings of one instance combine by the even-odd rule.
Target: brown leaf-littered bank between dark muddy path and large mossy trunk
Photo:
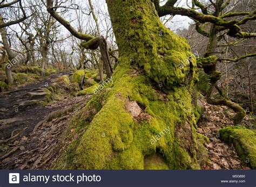
[[[84,106],[90,96],[80,96],[75,98],[66,98],[60,102],[52,103],[46,106],[46,109],[68,109],[79,103]],[[65,131],[68,121],[79,108],[63,113],[61,117],[45,121],[37,128],[35,133],[29,133],[22,136],[10,145],[5,154],[9,155],[0,159],[0,168],[2,169],[51,169],[51,163],[58,156],[58,142]],[[59,110],[58,110],[59,111]]]

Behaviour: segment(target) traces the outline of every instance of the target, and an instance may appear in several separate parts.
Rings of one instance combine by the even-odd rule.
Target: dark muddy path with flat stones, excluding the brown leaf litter
[[[25,85],[25,87],[6,92],[0,95],[0,139],[10,138],[14,133],[28,135],[35,125],[51,111],[58,110],[59,107],[19,107],[21,103],[31,100],[29,92],[35,92],[51,85],[55,78],[63,74],[53,74],[46,80],[35,84]],[[43,99],[43,98],[42,98]],[[42,100],[38,99],[38,100]]]

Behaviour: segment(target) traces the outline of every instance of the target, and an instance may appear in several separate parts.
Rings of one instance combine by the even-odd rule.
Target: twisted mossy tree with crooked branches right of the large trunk
[[[156,2],[157,4],[159,2]],[[221,78],[220,71],[217,70],[217,61],[238,61],[246,57],[255,56],[255,53],[246,54],[236,59],[223,59],[218,56],[218,42],[221,38],[227,36],[233,38],[252,38],[256,34],[254,32],[246,32],[243,30],[247,21],[255,20],[256,11],[248,10],[243,12],[226,12],[225,8],[230,5],[231,1],[216,0],[204,3],[192,0],[190,8],[176,7],[177,1],[167,1],[165,5],[158,7],[158,15],[182,15],[188,16],[196,20],[196,30],[198,33],[208,37],[208,44],[203,57],[198,59],[198,66],[201,66],[205,73],[210,77],[211,87],[207,90],[207,102],[214,105],[226,105],[233,109],[237,114],[234,117],[234,123],[240,124],[245,117],[246,112],[242,107],[232,102],[232,100],[224,94],[224,91],[218,87],[217,81]],[[196,10],[200,11],[196,11]],[[207,29],[208,28],[208,29]],[[212,97],[213,89],[217,89],[222,98]]]

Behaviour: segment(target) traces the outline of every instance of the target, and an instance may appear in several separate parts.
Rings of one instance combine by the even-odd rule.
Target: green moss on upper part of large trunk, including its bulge
[[[116,20],[113,30],[118,52],[127,55],[128,60],[142,67],[151,80],[163,83],[166,88],[184,84],[187,74],[193,71],[190,67],[196,67],[196,58],[187,41],[173,34],[152,13],[156,10],[152,10],[149,1],[107,4]]]

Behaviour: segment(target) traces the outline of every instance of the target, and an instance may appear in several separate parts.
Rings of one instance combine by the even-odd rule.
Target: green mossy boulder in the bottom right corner
[[[241,160],[256,169],[256,133],[246,128],[231,126],[219,131],[221,140],[233,145]]]

